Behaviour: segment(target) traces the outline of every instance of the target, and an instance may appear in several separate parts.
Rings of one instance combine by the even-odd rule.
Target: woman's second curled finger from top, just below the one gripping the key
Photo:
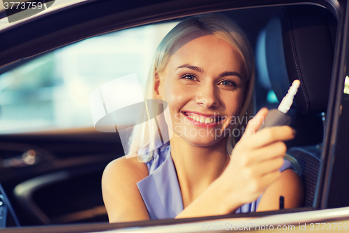
[[[287,146],[283,141],[276,141],[267,146],[253,150],[251,161],[258,163],[265,160],[272,160],[275,157],[283,157],[287,151]]]

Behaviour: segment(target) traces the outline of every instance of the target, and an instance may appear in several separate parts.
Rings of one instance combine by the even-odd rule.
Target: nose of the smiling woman
[[[205,108],[217,108],[219,106],[218,88],[212,83],[205,83],[200,86],[195,97],[195,103]]]

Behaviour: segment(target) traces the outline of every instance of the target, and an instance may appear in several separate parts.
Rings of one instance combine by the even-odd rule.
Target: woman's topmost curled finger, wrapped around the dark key
[[[276,141],[288,141],[295,138],[295,129],[287,125],[261,129],[248,139],[251,148],[261,148]],[[244,141],[244,143],[247,143]]]

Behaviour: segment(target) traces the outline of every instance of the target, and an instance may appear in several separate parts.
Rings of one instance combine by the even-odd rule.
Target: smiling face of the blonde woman
[[[238,122],[244,102],[244,62],[228,42],[201,36],[181,46],[156,76],[155,95],[167,101],[174,136],[211,146]]]

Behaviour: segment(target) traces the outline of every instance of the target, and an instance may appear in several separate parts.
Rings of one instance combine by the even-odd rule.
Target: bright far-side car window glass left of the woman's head
[[[96,36],[1,74],[0,133],[93,127],[89,94],[131,73],[137,74],[144,93],[156,47],[176,24]]]

